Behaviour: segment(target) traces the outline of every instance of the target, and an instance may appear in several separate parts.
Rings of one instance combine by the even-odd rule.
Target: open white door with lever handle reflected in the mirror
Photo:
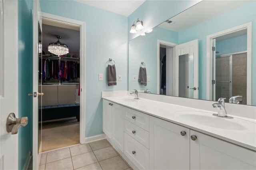
[[[179,56],[188,54],[188,97],[198,99],[198,40],[182,43],[175,47],[175,95],[179,96]],[[195,87],[195,89],[193,89]]]

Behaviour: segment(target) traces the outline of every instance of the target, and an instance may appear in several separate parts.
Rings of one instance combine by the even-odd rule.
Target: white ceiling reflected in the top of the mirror
[[[203,0],[187,9],[186,11],[172,17],[173,24],[166,22],[159,26],[168,30],[180,32],[202,22],[220,16],[226,12],[244,6],[253,0]]]

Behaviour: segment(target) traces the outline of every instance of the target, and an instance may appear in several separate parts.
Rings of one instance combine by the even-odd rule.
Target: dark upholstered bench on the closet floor
[[[41,108],[38,113],[39,121],[41,121]],[[52,105],[42,106],[42,121],[50,121],[55,119],[63,119],[69,117],[76,117],[80,121],[80,104],[65,104],[65,105]]]

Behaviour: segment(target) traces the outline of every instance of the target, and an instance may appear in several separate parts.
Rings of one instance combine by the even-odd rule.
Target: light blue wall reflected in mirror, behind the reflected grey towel
[[[139,36],[129,42],[129,90],[132,89],[150,89],[151,93],[157,93],[157,42],[163,40],[172,43],[178,43],[178,32],[156,27],[146,36]],[[138,83],[140,62],[146,64],[147,75],[150,75],[150,81],[147,86]],[[133,75],[137,80],[133,81]]]

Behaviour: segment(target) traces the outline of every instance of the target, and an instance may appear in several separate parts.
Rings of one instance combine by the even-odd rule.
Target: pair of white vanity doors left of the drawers
[[[124,107],[103,100],[103,132],[124,152]]]

